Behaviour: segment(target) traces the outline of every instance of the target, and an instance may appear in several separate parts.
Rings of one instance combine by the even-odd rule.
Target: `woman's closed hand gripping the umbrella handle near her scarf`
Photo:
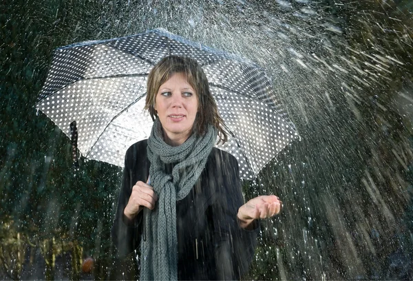
[[[132,187],[132,193],[123,210],[123,214],[131,220],[142,211],[143,207],[153,209],[156,201],[158,201],[158,196],[155,191],[153,191],[153,187],[142,181],[138,181],[138,183]]]

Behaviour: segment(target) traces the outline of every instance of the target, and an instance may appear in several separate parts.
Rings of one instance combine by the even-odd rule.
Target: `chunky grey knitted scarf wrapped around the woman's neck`
[[[149,175],[158,202],[153,210],[144,209],[145,228],[140,244],[140,280],[178,280],[176,201],[191,191],[207,163],[217,138],[212,125],[204,136],[192,134],[177,147],[167,145],[157,118],[148,139]],[[175,164],[172,174],[165,164]]]

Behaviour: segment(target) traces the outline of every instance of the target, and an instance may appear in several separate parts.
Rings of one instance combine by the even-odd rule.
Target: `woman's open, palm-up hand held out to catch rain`
[[[238,209],[240,227],[251,229],[252,222],[258,218],[270,218],[281,211],[282,201],[275,195],[255,197]]]

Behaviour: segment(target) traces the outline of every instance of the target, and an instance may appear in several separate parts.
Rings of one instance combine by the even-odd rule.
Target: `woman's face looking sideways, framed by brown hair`
[[[198,112],[198,97],[184,73],[175,73],[156,94],[155,110],[164,130],[165,142],[181,145],[191,135]]]

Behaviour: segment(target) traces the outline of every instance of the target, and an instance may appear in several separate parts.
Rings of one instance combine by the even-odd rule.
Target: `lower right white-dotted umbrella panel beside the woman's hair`
[[[231,138],[222,149],[233,154],[242,178],[254,178],[293,138],[295,129],[268,104],[248,96],[213,89]]]

